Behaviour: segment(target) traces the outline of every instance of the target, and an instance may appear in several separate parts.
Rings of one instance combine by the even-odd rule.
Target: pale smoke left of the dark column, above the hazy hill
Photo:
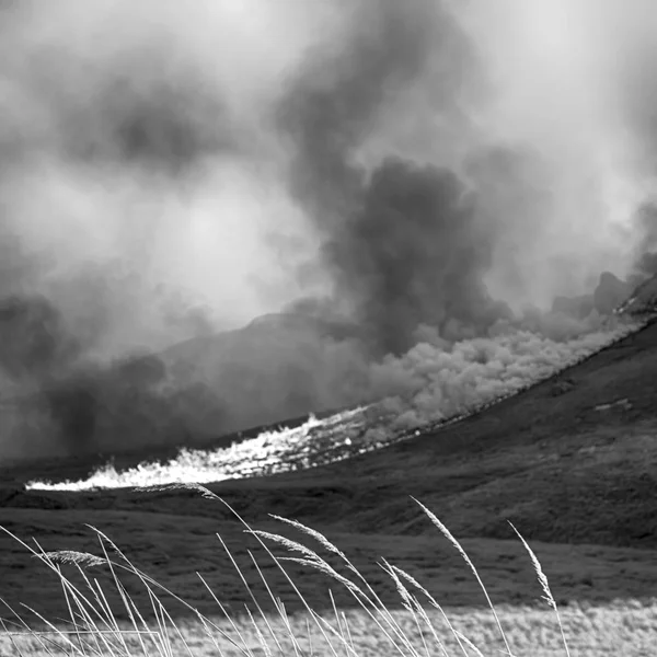
[[[189,337],[171,316],[189,308],[217,330],[295,295],[265,239],[306,234],[270,114],[318,21],[326,39],[338,22],[252,4],[1,10],[1,228],[31,269],[8,281],[3,262],[3,286],[94,324],[104,357]]]

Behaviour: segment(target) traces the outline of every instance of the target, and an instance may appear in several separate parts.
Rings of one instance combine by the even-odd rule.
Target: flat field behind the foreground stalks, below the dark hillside
[[[204,500],[206,504],[217,502]],[[42,539],[41,548],[47,552],[57,550],[76,551],[78,554],[92,553],[102,555],[100,542],[91,530],[79,531],[76,535],[62,537],[61,526],[80,526],[76,521],[77,514],[60,511],[59,520],[48,517],[48,511],[34,514],[30,519],[14,514],[14,522],[24,530],[28,523],[38,527]],[[12,515],[4,515],[11,518]],[[83,519],[79,519],[83,520]],[[262,634],[251,624],[243,612],[243,604],[249,602],[247,588],[265,610],[267,623],[273,626],[277,637],[283,643],[281,654],[292,654],[295,642],[286,636],[291,634],[299,638],[299,644],[306,649],[314,646],[312,655],[331,655],[327,646],[322,646],[322,633],[318,627],[309,630],[309,614],[304,606],[309,604],[328,623],[335,626],[333,607],[328,606],[328,588],[332,590],[335,606],[344,611],[343,625],[348,624],[351,645],[358,655],[394,654],[390,637],[385,632],[372,626],[368,615],[358,609],[354,597],[339,584],[336,585],[324,573],[307,566],[286,564],[286,572],[297,586],[297,592],[281,575],[270,555],[263,550],[255,537],[245,535],[241,527],[231,521],[218,521],[217,529],[221,543],[209,531],[208,522],[198,519],[182,519],[180,517],[150,514],[126,514],[113,511],[95,512],[87,518],[88,521],[102,525],[104,531],[116,540],[125,556],[137,568],[146,570],[154,580],[164,585],[169,590],[181,596],[186,603],[204,614],[207,622],[212,623],[212,632],[227,633],[237,639],[234,627],[242,634],[240,643],[252,649],[251,654],[265,654],[262,649],[262,636],[267,634],[267,625],[258,621]],[[137,529],[137,523],[140,525]],[[427,520],[428,523],[428,520]],[[309,537],[286,526],[268,523],[270,532],[300,540],[302,544],[318,550]],[[435,528],[434,528],[435,530]],[[391,618],[397,624],[404,636],[412,645],[419,648],[423,636],[416,624],[416,619],[410,610],[403,609],[399,590],[390,577],[374,564],[380,556],[388,557],[392,563],[412,577],[415,577],[447,611],[451,627],[447,625],[441,613],[427,608],[427,621],[439,634],[448,650],[458,650],[459,645],[452,635],[452,627],[462,632],[484,654],[493,654],[493,648],[504,647],[497,624],[491,611],[486,609],[485,598],[476,580],[463,563],[461,555],[445,537],[435,530],[437,535],[430,537],[391,537],[374,534],[364,543],[361,537],[328,532],[326,538],[343,550],[349,562],[365,577],[371,590],[379,596],[381,604],[390,610]],[[123,539],[123,540],[122,540]],[[13,539],[3,539],[2,570],[8,578],[4,580],[3,592],[9,599],[23,597],[25,585],[33,588],[31,607],[46,619],[56,619],[64,614],[62,592],[59,578],[30,556],[24,546]],[[470,558],[477,567],[487,593],[496,608],[499,622],[506,639],[516,655],[548,656],[564,654],[563,639],[558,624],[551,609],[543,600],[544,593],[537,583],[535,573],[527,552],[519,541],[495,541],[472,539],[461,542]],[[4,550],[7,548],[7,551]],[[652,554],[648,551],[633,549],[611,549],[596,545],[565,546],[554,544],[534,544],[534,552],[543,564],[543,569],[550,574],[551,589],[560,608],[561,622],[572,655],[649,655],[655,632],[657,632],[657,602],[645,598],[646,590],[655,590],[657,573],[654,568]],[[230,553],[230,557],[228,556]],[[342,560],[326,550],[318,550],[321,558],[325,560],[335,572],[358,583]],[[274,549],[274,553],[284,555],[286,551]],[[258,570],[253,567],[251,558],[258,564]],[[234,560],[234,561],[233,561]],[[118,561],[118,560],[117,560]],[[231,565],[232,561],[232,565]],[[380,560],[379,560],[379,563]],[[385,562],[383,562],[385,563]],[[143,567],[141,567],[143,566]],[[237,568],[235,568],[237,566]],[[116,627],[129,631],[129,615],[122,612],[118,596],[112,595],[113,578],[110,570],[102,566],[87,568],[89,577],[97,580],[106,592],[104,603],[111,608]],[[193,572],[198,573],[194,576]],[[61,573],[68,581],[84,590],[84,581],[72,566],[62,566]],[[240,574],[241,573],[241,574]],[[622,575],[620,577],[619,575]],[[243,578],[242,578],[243,577]],[[285,604],[289,620],[284,623],[277,618],[263,579],[278,600]],[[124,591],[129,596],[135,607],[146,614],[151,627],[159,627],[158,622],[148,616],[152,609],[152,599],[147,595],[146,587],[134,576],[122,576]],[[212,591],[212,595],[209,593]],[[160,591],[158,591],[160,592]],[[304,600],[301,603],[299,595]],[[223,610],[234,619],[235,626],[226,618],[220,616],[218,604],[212,596],[221,601]],[[215,644],[208,638],[207,626],[199,623],[191,609],[183,607],[172,597],[163,595],[168,611],[175,619],[180,636],[173,636],[172,654],[184,654],[187,648],[194,655],[238,655],[244,654],[231,648],[224,637],[215,637],[222,653],[218,653]],[[333,616],[333,618],[332,618]],[[155,616],[157,618],[157,616]],[[66,624],[56,623],[67,629]],[[102,624],[99,624],[102,626]],[[39,626],[39,623],[36,624]],[[337,625],[339,627],[339,624]],[[48,630],[41,626],[41,630]],[[56,639],[53,645],[61,645]],[[130,636],[126,634],[126,636]],[[310,638],[309,638],[310,637]],[[425,636],[426,641],[426,636]],[[148,643],[148,642],[147,642]],[[270,641],[268,642],[272,643]],[[160,649],[142,653],[138,643],[132,643],[134,654],[162,654]],[[45,655],[34,635],[21,636],[0,635],[0,654],[13,654],[18,647],[25,655]],[[286,647],[287,646],[287,647]],[[286,652],[287,650],[287,652]],[[19,654],[19,653],[15,653]],[[61,650],[55,654],[72,654]],[[90,653],[95,654],[95,653]],[[105,653],[102,653],[105,654]],[[125,654],[120,652],[106,654]],[[403,653],[413,654],[413,653]],[[475,653],[466,652],[468,655]]]

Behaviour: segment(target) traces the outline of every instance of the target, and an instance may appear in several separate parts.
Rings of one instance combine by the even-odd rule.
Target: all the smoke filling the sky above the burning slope
[[[0,456],[358,403],[473,339],[539,371],[654,270],[649,2],[0,13],[0,383],[39,400]]]

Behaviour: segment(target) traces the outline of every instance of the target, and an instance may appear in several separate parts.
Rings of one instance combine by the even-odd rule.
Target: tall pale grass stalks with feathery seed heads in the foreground
[[[27,635],[41,646],[42,652],[39,655],[53,657],[62,654],[66,654],[69,657],[177,657],[178,655],[196,657],[195,648],[185,638],[184,632],[176,625],[176,621],[163,602],[162,597],[170,596],[176,602],[182,603],[196,619],[198,626],[203,630],[207,638],[207,645],[211,646],[212,654],[218,657],[227,655],[227,650],[231,649],[231,655],[234,655],[234,652],[237,650],[238,654],[244,657],[255,657],[253,652],[254,648],[249,642],[249,633],[246,632],[247,626],[251,627],[251,633],[256,637],[257,649],[260,650],[258,654],[265,655],[265,657],[289,657],[290,655],[293,655],[293,657],[319,656],[320,653],[316,650],[321,649],[322,646],[318,645],[316,641],[313,642],[311,632],[313,626],[318,630],[319,637],[324,643],[321,653],[322,655],[331,655],[331,657],[359,657],[359,647],[354,641],[349,619],[344,610],[338,609],[334,591],[330,589],[327,593],[330,609],[333,611],[333,621],[328,621],[311,608],[310,603],[295,584],[292,577],[285,569],[286,563],[295,563],[321,572],[327,578],[327,583],[333,583],[348,591],[356,603],[356,608],[365,614],[364,618],[369,620],[371,632],[378,632],[381,639],[384,639],[388,644],[389,649],[384,653],[385,655],[395,654],[401,657],[431,657],[433,655],[436,655],[435,649],[438,649],[442,657],[450,657],[443,637],[440,637],[438,627],[429,618],[427,608],[425,608],[425,604],[422,602],[420,597],[424,597],[426,598],[426,602],[428,602],[428,608],[436,609],[447,623],[448,631],[458,646],[458,652],[464,657],[470,657],[471,655],[483,656],[481,648],[475,646],[472,641],[465,637],[451,624],[448,615],[442,607],[436,601],[435,597],[412,575],[402,568],[399,568],[385,560],[379,564],[394,585],[400,597],[401,606],[411,614],[416,635],[419,637],[418,641],[415,641],[414,637],[410,635],[408,631],[405,631],[400,625],[400,622],[395,620],[392,610],[383,603],[373,587],[366,580],[365,576],[356,568],[349,558],[319,531],[306,527],[296,520],[272,516],[274,520],[281,522],[288,528],[298,530],[333,556],[337,557],[346,568],[348,576],[338,573],[335,567],[330,565],[315,550],[299,541],[293,541],[279,533],[252,529],[228,503],[204,486],[197,484],[192,486],[176,484],[176,487],[194,489],[204,497],[220,502],[234,515],[237,520],[242,523],[244,531],[258,541],[260,545],[264,548],[267,557],[273,560],[276,567],[290,584],[293,593],[298,597],[302,608],[307,612],[307,641],[302,641],[303,632],[297,636],[283,600],[278,598],[272,589],[265,577],[264,570],[256,562],[253,553],[249,552],[253,567],[265,587],[266,596],[273,603],[275,610],[274,618],[277,618],[280,623],[281,630],[277,629],[273,620],[265,612],[262,602],[249,585],[243,569],[237,563],[228,545],[219,534],[217,534],[219,543],[227,553],[229,562],[237,570],[242,585],[246,588],[252,601],[252,607],[245,606],[244,609],[245,618],[247,619],[246,625],[243,620],[238,620],[235,614],[227,609],[226,604],[211,590],[210,586],[200,574],[197,573],[200,585],[207,589],[217,603],[219,611],[227,619],[227,627],[221,627],[217,622],[201,614],[195,607],[185,602],[165,586],[152,579],[139,569],[108,537],[101,530],[91,526],[88,527],[90,527],[99,540],[101,548],[100,555],[65,550],[46,552],[36,541],[34,542],[34,546],[28,545],[8,529],[0,528],[30,551],[33,557],[39,560],[59,578],[66,609],[69,615],[62,624],[58,625],[56,620],[46,619],[36,609],[23,604],[23,609],[31,613],[41,625],[45,627],[45,630],[36,630],[30,625],[21,614],[5,603],[18,621],[0,619],[0,624],[2,625],[4,635],[10,637],[16,655],[21,656],[26,654],[21,652],[22,648],[18,635],[21,635],[22,637]],[[512,656],[511,647],[505,631],[476,567],[459,541],[452,537],[440,520],[438,520],[438,518],[422,503],[415,502],[426,514],[427,518],[454,545],[466,565],[473,572],[477,583],[484,591],[486,601],[493,611],[495,623],[502,635],[505,648],[504,652],[507,655]],[[514,526],[511,526],[511,528],[530,555],[532,566],[543,592],[545,593],[544,599],[556,613],[565,655],[566,657],[570,657],[564,627],[556,602],[548,585],[548,578],[531,548],[520,535],[518,530]],[[268,543],[284,549],[287,555],[277,556],[274,554],[273,549],[268,546]],[[76,573],[80,575],[83,583],[82,588],[76,585],[70,577],[67,577],[62,569],[62,566],[65,565],[72,565],[74,567]],[[119,603],[129,622],[127,629],[118,621],[116,612],[113,611],[112,604],[99,579],[89,574],[90,570],[95,568],[108,569],[111,583],[118,593]],[[125,576],[126,574],[136,576],[140,585],[145,587],[148,595],[149,609],[139,609],[135,600],[128,593],[128,589],[122,579],[122,576]],[[153,620],[148,621],[147,618]],[[21,631],[19,632],[19,630]],[[310,652],[303,647],[304,643],[309,646]],[[204,656],[205,655],[207,655],[207,653],[204,650]]]

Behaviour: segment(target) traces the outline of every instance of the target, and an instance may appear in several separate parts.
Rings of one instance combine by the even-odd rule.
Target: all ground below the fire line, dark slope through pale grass
[[[657,325],[653,323],[563,372],[560,379],[567,380],[566,387],[546,381],[437,433],[348,461],[224,481],[208,488],[258,530],[299,538],[292,528],[273,525],[269,514],[321,530],[353,560],[390,613],[412,633],[413,614],[377,565],[384,557],[434,593],[449,618],[462,623],[463,632],[485,647],[484,654],[495,654],[498,634],[476,579],[454,546],[412,502],[413,496],[440,518],[471,555],[516,654],[564,654],[553,611],[541,600],[543,591],[509,527],[511,521],[535,551],[550,580],[573,655],[654,654],[655,345]],[[37,463],[10,474],[19,481],[65,480],[87,466]],[[243,533],[223,505],[197,491],[73,493],[9,487],[0,508],[0,526],[22,539],[36,538],[46,551],[102,554],[89,525],[111,537],[131,563],[212,619],[219,614],[217,604],[197,572],[231,613],[239,615],[244,603],[253,602],[218,533],[252,592],[265,604],[267,591],[253,554],[303,634],[308,610],[275,562],[254,537]],[[335,555],[323,556],[332,563]],[[67,615],[58,576],[9,535],[0,537],[0,595],[8,602],[28,602],[47,618]],[[286,568],[303,599],[318,613],[331,615],[325,575],[300,564]],[[79,576],[71,566],[64,572],[73,580]],[[112,587],[111,574],[99,568],[96,576]],[[145,618],[155,622],[148,591],[139,581],[128,581],[126,587]],[[357,654],[393,654],[385,652],[381,633],[374,632],[348,590],[333,583],[332,591],[337,608],[348,615]],[[117,606],[116,619],[126,623],[118,602],[117,598],[111,603]],[[267,604],[267,613],[273,613],[273,603]],[[194,643],[193,654],[218,654],[203,638],[203,627],[188,607],[171,600],[169,609],[183,635]],[[241,623],[240,627],[251,627],[247,619]],[[262,650],[255,630],[244,631],[251,632],[254,649]],[[0,655],[14,654],[14,647],[4,648],[9,639],[3,641]],[[32,654],[42,649],[33,648]]]

